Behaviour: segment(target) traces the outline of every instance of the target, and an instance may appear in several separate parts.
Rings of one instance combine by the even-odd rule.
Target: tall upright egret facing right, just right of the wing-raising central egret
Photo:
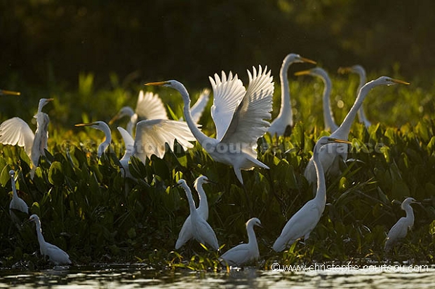
[[[279,111],[279,115],[276,116],[274,121],[270,124],[269,129],[267,129],[272,135],[276,134],[277,136],[282,136],[284,132],[286,132],[287,127],[293,127],[293,113],[291,111],[287,71],[291,64],[297,62],[316,64],[315,61],[295,53],[290,53],[283,59],[283,64],[281,64],[281,70],[279,71],[279,78],[281,79],[281,110]]]

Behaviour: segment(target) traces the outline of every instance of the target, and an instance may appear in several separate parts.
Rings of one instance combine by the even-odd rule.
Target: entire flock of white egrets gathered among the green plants
[[[184,102],[184,120],[169,120],[166,109],[161,99],[152,92],[141,91],[139,94],[136,110],[123,107],[121,111],[109,122],[123,116],[128,116],[130,121],[127,128],[118,127],[126,146],[126,153],[120,160],[123,176],[133,178],[128,170],[128,162],[131,156],[138,157],[145,162],[147,157],[156,155],[163,157],[165,153],[165,143],[173,148],[175,139],[185,148],[192,148],[192,141],[199,144],[216,162],[222,162],[232,166],[234,173],[243,185],[241,170],[250,170],[254,167],[269,169],[266,164],[257,160],[257,139],[265,133],[281,136],[286,129],[293,126],[293,115],[290,105],[290,92],[288,87],[287,70],[290,64],[295,62],[308,62],[316,64],[311,59],[301,57],[297,54],[289,54],[283,60],[281,66],[281,111],[272,121],[267,120],[272,117],[272,97],[274,94],[274,82],[271,71],[267,67],[258,69],[253,67],[253,71],[248,71],[249,83],[243,86],[237,75],[231,72],[221,76],[215,74],[210,77],[213,89],[213,106],[211,106],[211,116],[215,122],[216,137],[210,138],[201,132],[198,122],[201,114],[208,103],[210,91],[203,90],[201,97],[192,108],[190,107],[190,97],[186,88],[177,80],[147,83],[145,85],[161,85],[172,87],[178,90]],[[339,170],[338,161],[347,159],[348,136],[352,122],[359,113],[359,119],[366,126],[370,122],[365,118],[362,104],[368,92],[378,85],[394,85],[397,83],[406,84],[401,80],[396,80],[387,76],[381,76],[366,83],[366,73],[361,66],[352,66],[341,69],[342,72],[359,73],[360,85],[354,105],[350,109],[341,125],[336,125],[333,115],[330,113],[329,94],[330,80],[328,74],[323,69],[316,67],[307,71],[301,71],[297,75],[309,74],[319,76],[325,83],[323,95],[323,113],[325,128],[329,129],[330,136],[323,136],[316,142],[312,158],[309,160],[304,171],[304,176],[309,183],[313,183],[316,188],[316,196],[295,213],[283,227],[281,235],[276,239],[272,248],[274,251],[283,251],[293,244],[297,239],[308,239],[310,232],[316,227],[326,205],[326,183],[325,174],[336,174]],[[6,90],[4,94],[12,94]],[[41,99],[39,101],[36,118],[36,132],[33,134],[26,122],[20,118],[11,118],[0,125],[0,143],[12,146],[24,146],[26,153],[32,160],[33,169],[39,163],[39,157],[44,155],[47,148],[48,139],[48,115],[42,112],[42,108],[51,99]],[[98,147],[98,157],[109,147],[112,136],[109,125],[102,121],[82,123],[76,125],[89,126],[100,129],[105,133],[105,141]],[[14,210],[28,213],[27,204],[18,197],[15,190],[15,172],[11,171],[11,181],[13,198],[10,204],[10,212],[13,220],[18,223]],[[194,187],[199,193],[199,206],[196,207],[192,192],[184,180],[178,181],[186,192],[189,202],[190,215],[182,225],[175,249],[180,248],[189,239],[196,239],[203,245],[208,245],[213,250],[219,250],[219,244],[213,228],[207,223],[208,203],[206,194],[202,188],[203,183],[208,183],[206,176],[199,176],[194,183]],[[401,218],[396,225],[389,231],[385,244],[386,250],[391,248],[398,239],[406,236],[408,227],[412,227],[414,222],[413,209],[410,204],[415,203],[415,199],[408,197],[402,203],[402,209],[406,211],[406,217]],[[57,246],[44,241],[41,233],[41,223],[38,216],[32,215],[29,220],[36,223],[36,232],[41,254],[47,255],[54,264],[70,264],[69,256]],[[260,226],[260,220],[251,218],[246,223],[248,232],[248,244],[240,244],[220,256],[222,264],[242,265],[249,260],[259,258],[257,240],[253,227]]]

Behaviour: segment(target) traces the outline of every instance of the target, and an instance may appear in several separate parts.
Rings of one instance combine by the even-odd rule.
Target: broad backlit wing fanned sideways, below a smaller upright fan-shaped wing
[[[156,155],[162,158],[165,154],[165,143],[170,148],[174,146],[177,139],[183,148],[192,148],[195,141],[186,122],[177,120],[141,120],[136,125],[136,136],[134,141],[134,155],[145,162],[147,157]]]

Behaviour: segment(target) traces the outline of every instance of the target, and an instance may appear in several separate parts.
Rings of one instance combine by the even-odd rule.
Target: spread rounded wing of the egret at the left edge
[[[27,155],[32,154],[34,134],[21,118],[10,118],[0,125],[0,143],[24,146]]]

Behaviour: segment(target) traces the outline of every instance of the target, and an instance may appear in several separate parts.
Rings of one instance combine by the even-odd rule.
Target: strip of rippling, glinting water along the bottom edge
[[[256,268],[231,272],[189,272],[144,269],[140,265],[94,267],[55,267],[24,272],[0,269],[0,288],[283,288],[283,287],[373,287],[433,288],[435,267],[420,270],[408,267],[370,267],[365,269],[321,269],[299,272],[264,271]]]

